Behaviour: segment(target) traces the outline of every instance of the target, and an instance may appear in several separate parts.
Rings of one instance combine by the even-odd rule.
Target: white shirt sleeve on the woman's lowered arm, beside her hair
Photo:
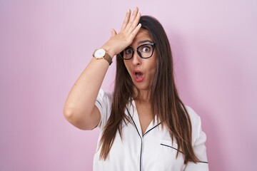
[[[193,151],[201,162],[188,162],[185,171],[208,171],[208,160],[206,155],[206,134],[201,128],[201,118],[192,108],[186,107],[192,123]]]

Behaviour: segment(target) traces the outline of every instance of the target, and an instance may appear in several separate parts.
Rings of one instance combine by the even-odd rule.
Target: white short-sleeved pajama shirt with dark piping
[[[99,123],[100,135],[111,113],[111,93],[99,91],[96,106],[101,113]],[[188,106],[186,107],[192,123],[193,150],[201,162],[197,164],[188,162],[184,165],[184,157],[178,151],[176,140],[171,136],[165,126],[153,121],[148,125],[146,133],[142,135],[141,125],[138,118],[135,102],[126,106],[126,115],[131,118],[129,123],[123,123],[122,139],[119,131],[116,133],[114,143],[111,146],[106,160],[99,160],[101,148],[96,148],[94,155],[94,171],[208,171],[206,157],[206,134],[201,130],[200,117]],[[174,138],[175,139],[175,138]]]

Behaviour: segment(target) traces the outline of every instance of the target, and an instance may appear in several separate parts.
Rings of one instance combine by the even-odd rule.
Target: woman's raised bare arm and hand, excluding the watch
[[[138,24],[140,16],[138,8],[132,15],[128,10],[120,33],[111,29],[111,38],[101,47],[111,58],[132,43],[141,28],[141,24]],[[109,63],[106,60],[92,58],[69,92],[64,105],[64,116],[81,130],[91,130],[100,122],[101,115],[95,102],[108,68]]]

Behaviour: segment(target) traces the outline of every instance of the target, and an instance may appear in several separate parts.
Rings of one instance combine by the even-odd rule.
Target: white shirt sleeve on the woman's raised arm
[[[111,97],[111,93],[105,92],[102,89],[99,90],[99,94],[97,95],[95,105],[99,109],[101,115],[101,120],[98,125],[100,130],[104,129],[104,125],[106,125],[107,120],[109,119],[109,116],[111,114]]]

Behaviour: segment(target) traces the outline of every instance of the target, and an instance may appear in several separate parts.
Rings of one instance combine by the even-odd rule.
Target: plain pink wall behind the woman
[[[181,98],[208,136],[210,170],[256,170],[256,0],[0,0],[0,170],[92,170],[98,130],[69,124],[64,101],[135,6],[168,33]],[[105,90],[114,73],[115,64]]]

